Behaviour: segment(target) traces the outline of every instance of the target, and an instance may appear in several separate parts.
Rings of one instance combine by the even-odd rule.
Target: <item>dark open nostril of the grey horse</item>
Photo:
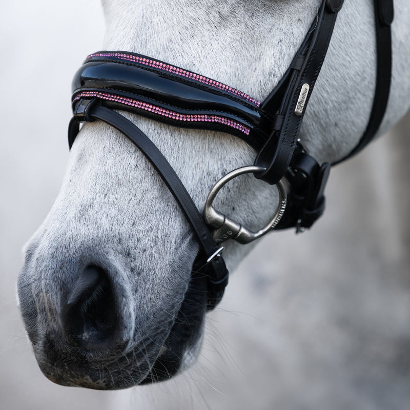
[[[108,348],[115,343],[116,312],[107,272],[89,266],[75,281],[62,310],[61,321],[72,345],[86,350]]]

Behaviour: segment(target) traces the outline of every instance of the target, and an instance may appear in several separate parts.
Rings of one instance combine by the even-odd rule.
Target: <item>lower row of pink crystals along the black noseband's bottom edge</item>
[[[144,103],[144,101],[139,101],[137,99],[122,97],[120,95],[104,93],[100,91],[83,91],[76,95],[73,101],[76,101],[83,97],[97,97],[108,101],[114,101],[115,103],[125,104],[179,121],[219,122],[220,124],[235,128],[246,135],[249,135],[250,132],[250,129],[248,127],[245,127],[242,124],[239,124],[239,122],[233,121],[229,118],[221,117],[220,115],[179,114],[175,111],[167,110],[165,108],[161,108],[149,103]]]

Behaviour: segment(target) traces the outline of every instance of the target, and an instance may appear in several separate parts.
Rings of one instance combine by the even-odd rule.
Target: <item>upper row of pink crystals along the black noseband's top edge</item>
[[[203,75],[193,73],[188,70],[183,70],[182,68],[172,66],[171,64],[162,63],[162,61],[156,61],[147,57],[124,54],[124,53],[95,53],[90,54],[87,58],[92,57],[115,57],[121,60],[131,61],[132,63],[141,64],[142,66],[153,67],[158,70],[167,71],[172,74],[180,75],[182,77],[187,77],[192,80],[199,81],[200,83],[206,84],[207,86],[215,87],[220,90],[226,91],[230,94],[235,95],[236,97],[242,98],[248,103],[251,103],[257,107],[260,106],[260,101],[255,98],[252,98],[250,95],[245,94],[235,88],[229,87],[226,84],[219,83],[211,78],[204,77]]]

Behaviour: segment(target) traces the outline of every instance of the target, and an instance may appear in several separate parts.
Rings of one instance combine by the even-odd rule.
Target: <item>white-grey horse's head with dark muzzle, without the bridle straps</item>
[[[372,106],[372,6],[355,13],[355,2],[347,3],[301,130],[320,163],[351,152]],[[155,56],[263,100],[291,64],[320,5],[105,0],[104,48]],[[408,108],[399,96],[392,101],[384,130]],[[359,110],[363,115],[356,115]],[[152,139],[199,210],[216,181],[254,162],[255,150],[235,136],[122,114]],[[216,201],[223,213],[257,229],[271,219],[278,193],[243,176]],[[228,241],[224,247],[232,271],[252,245]],[[206,293],[190,284],[199,251],[147,158],[103,122],[85,124],[60,193],[27,244],[18,279],[20,309],[43,373],[63,385],[117,389],[165,380],[190,366],[199,354],[206,314]]]

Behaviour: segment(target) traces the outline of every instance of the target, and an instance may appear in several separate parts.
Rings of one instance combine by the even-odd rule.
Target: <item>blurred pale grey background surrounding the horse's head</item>
[[[243,261],[189,372],[123,392],[48,381],[15,281],[58,193],[71,78],[104,18],[98,0],[2,2],[0,33],[1,409],[410,408],[409,115],[333,170],[312,231],[273,233]]]

